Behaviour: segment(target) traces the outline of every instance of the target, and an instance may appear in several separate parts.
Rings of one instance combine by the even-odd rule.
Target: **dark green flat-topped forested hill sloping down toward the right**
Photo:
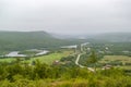
[[[0,50],[56,48],[72,44],[55,38],[46,32],[0,32]]]

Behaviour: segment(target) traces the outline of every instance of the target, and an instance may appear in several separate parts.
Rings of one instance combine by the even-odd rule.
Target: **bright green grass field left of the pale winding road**
[[[72,50],[62,51],[62,52],[55,52],[55,53],[50,53],[47,55],[31,58],[29,60],[25,60],[23,62],[32,63],[35,60],[39,60],[43,63],[52,64],[53,61],[60,60],[62,57],[68,57],[71,53],[73,53]],[[24,59],[24,58],[21,58],[21,59]],[[15,58],[0,59],[0,62],[12,62],[12,61],[15,61]]]

